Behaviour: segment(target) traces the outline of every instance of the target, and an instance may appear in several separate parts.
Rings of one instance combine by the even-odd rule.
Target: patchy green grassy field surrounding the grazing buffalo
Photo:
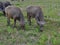
[[[26,23],[26,30],[18,30],[7,25],[7,19],[0,13],[0,45],[60,45],[60,0],[25,0],[24,2],[12,2],[14,5],[21,7],[25,21],[26,7],[28,5],[39,5],[44,13],[46,24],[44,31],[39,32],[35,19],[32,19],[32,25]]]

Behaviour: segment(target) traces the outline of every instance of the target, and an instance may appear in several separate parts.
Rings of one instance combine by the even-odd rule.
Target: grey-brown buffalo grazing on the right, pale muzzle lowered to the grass
[[[40,31],[43,31],[45,22],[42,9],[39,6],[28,6],[26,10],[29,25],[31,25],[31,18],[35,18],[37,24],[40,26]]]

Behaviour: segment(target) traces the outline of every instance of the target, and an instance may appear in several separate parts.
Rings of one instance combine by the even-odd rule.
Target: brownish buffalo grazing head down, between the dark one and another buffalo
[[[21,28],[24,29],[25,21],[20,8],[15,6],[8,6],[5,8],[5,13],[7,17],[7,25],[10,25],[10,18],[12,18],[14,19],[14,27],[16,26],[16,20],[18,20],[20,22]]]

